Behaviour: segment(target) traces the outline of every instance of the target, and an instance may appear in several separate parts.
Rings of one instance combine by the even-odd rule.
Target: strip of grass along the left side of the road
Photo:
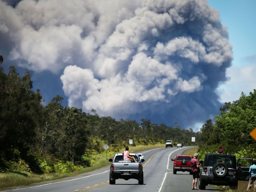
[[[130,146],[129,151],[131,153],[138,153],[148,149],[165,147],[164,144],[156,144],[156,145],[138,145],[138,146]],[[120,151],[120,153],[123,151]],[[72,177],[76,175],[80,175],[82,173],[87,173],[96,169],[100,169],[101,167],[105,167],[111,164],[108,159],[113,158],[116,152],[108,152],[100,153],[95,163],[90,167],[85,167],[79,171],[65,174],[57,174],[57,173],[44,173],[44,174],[36,174],[33,172],[23,172],[23,171],[10,171],[6,173],[0,173],[0,189],[12,188],[15,186],[25,186],[31,185],[33,183],[42,183],[50,180],[57,180],[65,177]]]

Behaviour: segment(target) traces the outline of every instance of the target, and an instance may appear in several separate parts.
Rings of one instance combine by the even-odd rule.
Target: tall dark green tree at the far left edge
[[[0,71],[0,153],[8,160],[17,158],[15,154],[26,156],[33,145],[42,112],[42,97],[39,89],[37,92],[31,90],[28,70],[23,77],[14,66],[9,68],[8,75],[2,68]],[[20,153],[13,153],[14,150]]]

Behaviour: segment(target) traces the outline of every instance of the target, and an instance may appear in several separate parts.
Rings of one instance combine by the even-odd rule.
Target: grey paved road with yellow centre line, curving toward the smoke
[[[183,148],[157,148],[143,151],[145,162],[143,163],[144,185],[138,185],[138,180],[130,179],[116,180],[115,185],[109,185],[109,166],[84,173],[76,177],[68,177],[61,180],[48,181],[37,185],[21,186],[11,190],[17,192],[75,192],[75,191],[145,191],[145,192],[180,192],[190,191],[192,175],[188,172],[177,172],[173,174],[173,161],[176,155],[190,147]],[[130,150],[132,152],[132,150]],[[211,185],[206,186],[206,190],[218,191]]]

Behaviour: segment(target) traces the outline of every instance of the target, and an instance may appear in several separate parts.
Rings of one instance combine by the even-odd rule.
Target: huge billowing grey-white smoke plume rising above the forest
[[[203,0],[0,0],[19,66],[61,74],[68,105],[182,128],[218,113],[232,47]]]

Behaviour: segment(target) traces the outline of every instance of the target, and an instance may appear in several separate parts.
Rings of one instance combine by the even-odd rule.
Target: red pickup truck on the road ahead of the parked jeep
[[[190,155],[177,155],[175,159],[172,159],[173,162],[173,174],[176,174],[177,171],[188,171],[190,175],[191,172],[191,161],[192,157]]]

